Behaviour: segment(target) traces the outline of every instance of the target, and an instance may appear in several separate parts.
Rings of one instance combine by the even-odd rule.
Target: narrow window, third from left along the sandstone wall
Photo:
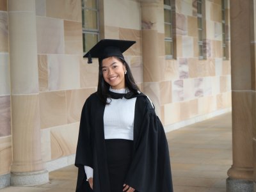
[[[204,25],[204,0],[197,0],[197,27],[198,27],[198,52],[199,52],[199,60],[204,60],[206,58],[205,50],[206,47],[204,45],[204,37],[205,37],[205,25]]]

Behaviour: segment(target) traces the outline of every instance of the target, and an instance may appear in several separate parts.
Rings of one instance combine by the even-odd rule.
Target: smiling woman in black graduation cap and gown
[[[134,43],[101,40],[84,56],[99,58],[99,82],[81,113],[76,191],[173,191],[163,125],[122,54]]]

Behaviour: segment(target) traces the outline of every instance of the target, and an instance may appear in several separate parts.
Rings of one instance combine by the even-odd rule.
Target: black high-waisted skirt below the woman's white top
[[[133,141],[122,139],[105,141],[111,192],[122,192],[131,163]]]

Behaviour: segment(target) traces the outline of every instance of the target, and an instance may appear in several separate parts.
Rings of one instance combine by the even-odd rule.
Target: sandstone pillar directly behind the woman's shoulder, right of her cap
[[[143,92],[150,97],[156,107],[156,113],[160,113],[160,87],[161,61],[164,58],[164,17],[163,2],[159,0],[140,0],[141,3],[141,35],[143,58]],[[161,47],[161,42],[163,46]],[[159,47],[163,49],[159,49]],[[163,54],[161,54],[163,52]]]

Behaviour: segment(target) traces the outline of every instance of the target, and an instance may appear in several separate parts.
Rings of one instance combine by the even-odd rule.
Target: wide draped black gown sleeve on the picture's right
[[[172,192],[168,143],[163,125],[153,108],[145,111],[139,128],[125,184],[139,192]]]

